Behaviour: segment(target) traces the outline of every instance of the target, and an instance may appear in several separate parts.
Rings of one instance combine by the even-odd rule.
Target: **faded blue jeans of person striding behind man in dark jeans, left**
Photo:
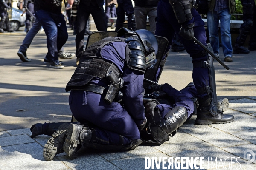
[[[26,52],[26,50],[29,48],[32,40],[34,39],[38,31],[41,29],[41,27],[42,27],[41,23],[39,23],[38,19],[36,18],[34,25],[26,34],[26,37],[24,38],[22,45],[20,45],[20,51]],[[63,52],[64,52],[64,48],[62,47],[60,51],[58,51],[58,54],[62,54]],[[49,57],[46,56],[46,58],[48,59]]]

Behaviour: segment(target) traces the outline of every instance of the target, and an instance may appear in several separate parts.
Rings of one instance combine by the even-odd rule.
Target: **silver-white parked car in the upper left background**
[[[19,30],[21,26],[25,26],[25,20],[26,13],[23,14],[23,11],[12,8],[12,18],[10,18],[9,21],[11,22],[11,26],[14,31]],[[3,26],[3,30],[6,31],[6,25]]]

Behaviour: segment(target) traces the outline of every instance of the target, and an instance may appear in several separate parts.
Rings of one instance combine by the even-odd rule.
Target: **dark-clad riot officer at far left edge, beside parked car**
[[[6,23],[6,28],[8,32],[14,32],[11,28],[11,23],[9,21],[9,17],[7,14],[7,9],[11,9],[10,3],[8,0],[0,0],[0,16],[1,16],[1,21],[0,21],[0,32],[3,31],[3,25]]]

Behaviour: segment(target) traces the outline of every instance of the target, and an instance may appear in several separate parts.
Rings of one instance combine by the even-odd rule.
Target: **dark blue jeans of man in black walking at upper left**
[[[47,57],[51,63],[56,62],[58,61],[58,51],[68,38],[66,21],[61,13],[55,14],[45,10],[36,11],[35,16],[42,24],[47,36]]]

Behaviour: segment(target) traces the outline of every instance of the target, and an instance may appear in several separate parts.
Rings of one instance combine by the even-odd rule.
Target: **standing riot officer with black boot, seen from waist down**
[[[195,123],[209,125],[233,122],[234,116],[222,114],[218,110],[213,60],[192,40],[195,36],[206,45],[204,21],[195,10],[195,5],[195,0],[192,3],[189,0],[160,0],[157,6],[156,35],[166,37],[171,43],[176,32],[192,57],[192,78],[199,98]],[[207,48],[211,49],[209,44]]]

